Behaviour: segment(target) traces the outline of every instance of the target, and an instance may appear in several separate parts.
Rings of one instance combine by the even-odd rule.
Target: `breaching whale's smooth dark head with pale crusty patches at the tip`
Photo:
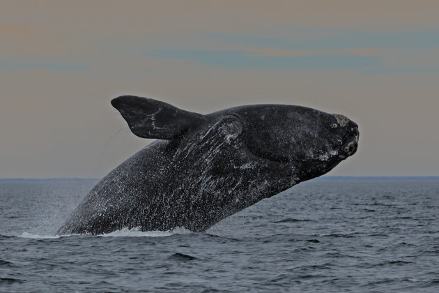
[[[357,151],[357,123],[292,105],[249,105],[220,112],[236,117],[255,156],[295,169],[297,181],[320,176]]]

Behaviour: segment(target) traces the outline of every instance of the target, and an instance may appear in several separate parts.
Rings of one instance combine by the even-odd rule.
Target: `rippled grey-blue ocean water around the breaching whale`
[[[439,292],[439,179],[314,179],[205,233],[54,236],[96,180],[0,180],[0,292]]]

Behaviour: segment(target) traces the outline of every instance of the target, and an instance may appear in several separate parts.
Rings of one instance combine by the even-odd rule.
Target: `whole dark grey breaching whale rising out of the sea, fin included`
[[[202,232],[357,151],[355,122],[307,107],[248,105],[201,115],[136,96],[111,105],[132,133],[159,140],[105,176],[57,234]]]

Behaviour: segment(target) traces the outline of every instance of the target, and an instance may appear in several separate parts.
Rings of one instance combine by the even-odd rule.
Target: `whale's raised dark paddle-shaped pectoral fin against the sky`
[[[120,96],[111,105],[121,112],[134,135],[171,140],[203,120],[203,115],[137,96]]]

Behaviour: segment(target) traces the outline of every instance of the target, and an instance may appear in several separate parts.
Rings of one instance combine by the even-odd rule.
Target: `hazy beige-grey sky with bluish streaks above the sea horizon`
[[[0,178],[100,178],[152,142],[110,100],[357,122],[332,176],[439,176],[439,1],[0,0]]]

